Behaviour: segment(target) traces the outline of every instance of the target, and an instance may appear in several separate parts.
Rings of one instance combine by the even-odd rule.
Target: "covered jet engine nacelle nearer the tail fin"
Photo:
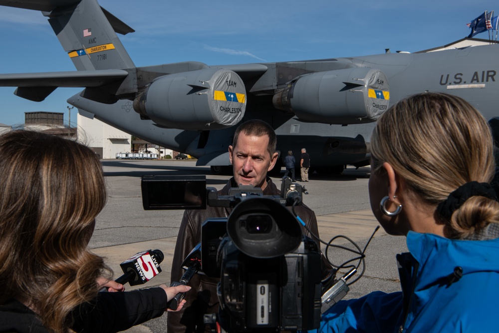
[[[162,127],[221,129],[243,119],[246,88],[241,77],[227,69],[169,74],[155,79],[133,108]]]

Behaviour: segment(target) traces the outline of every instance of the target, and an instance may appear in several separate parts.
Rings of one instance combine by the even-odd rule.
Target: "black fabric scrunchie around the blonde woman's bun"
[[[469,182],[458,187],[454,192],[449,194],[446,200],[442,201],[437,206],[437,211],[441,216],[450,220],[452,214],[463,205],[463,203],[471,197],[481,196],[489,199],[497,200],[496,191],[489,183],[479,183],[477,181]]]

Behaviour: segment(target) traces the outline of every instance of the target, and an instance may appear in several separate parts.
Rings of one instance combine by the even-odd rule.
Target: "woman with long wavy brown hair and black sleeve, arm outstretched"
[[[161,315],[189,289],[98,293],[111,272],[87,245],[105,189],[88,147],[33,131],[0,136],[0,332],[116,332]]]

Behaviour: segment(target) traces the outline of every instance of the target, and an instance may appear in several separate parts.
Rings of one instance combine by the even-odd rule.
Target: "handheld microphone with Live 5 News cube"
[[[122,285],[127,282],[130,286],[143,285],[161,272],[159,264],[165,259],[160,250],[147,250],[136,253],[120,264],[123,275],[118,277],[115,282]],[[102,288],[99,291],[106,291]]]

